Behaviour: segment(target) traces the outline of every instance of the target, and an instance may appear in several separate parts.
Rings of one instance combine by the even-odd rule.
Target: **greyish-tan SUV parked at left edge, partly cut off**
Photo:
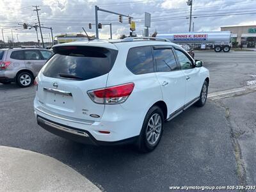
[[[51,55],[52,51],[39,48],[0,49],[0,83],[31,86]]]

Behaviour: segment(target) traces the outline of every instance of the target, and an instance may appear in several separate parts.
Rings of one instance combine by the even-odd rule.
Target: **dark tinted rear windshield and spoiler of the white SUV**
[[[117,52],[102,47],[55,47],[47,62],[44,76],[58,79],[86,80],[108,74]]]

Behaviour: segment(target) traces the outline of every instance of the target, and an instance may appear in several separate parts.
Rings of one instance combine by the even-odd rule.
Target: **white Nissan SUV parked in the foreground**
[[[96,145],[136,143],[148,152],[171,120],[204,106],[209,71],[179,45],[159,39],[55,45],[36,77],[38,124]]]

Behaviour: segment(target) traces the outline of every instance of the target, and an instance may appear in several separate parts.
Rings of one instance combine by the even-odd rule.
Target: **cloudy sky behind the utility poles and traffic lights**
[[[36,41],[35,29],[22,29],[22,24],[38,22],[33,6],[40,6],[40,22],[52,27],[54,35],[79,33],[82,27],[90,35],[95,34],[94,6],[113,12],[131,15],[136,22],[136,33],[142,35],[144,13],[151,13],[150,33],[182,32],[189,28],[189,6],[187,0],[1,0],[0,30],[4,40]],[[256,25],[256,0],[193,0],[193,22],[195,31],[220,31],[220,26]],[[99,12],[99,22],[113,24],[113,37],[129,34],[128,20],[121,24],[118,15]],[[0,31],[1,32],[1,31]],[[49,29],[43,29],[45,42],[49,41]],[[100,38],[109,38],[109,26],[99,29]],[[2,40],[2,34],[0,35]]]

